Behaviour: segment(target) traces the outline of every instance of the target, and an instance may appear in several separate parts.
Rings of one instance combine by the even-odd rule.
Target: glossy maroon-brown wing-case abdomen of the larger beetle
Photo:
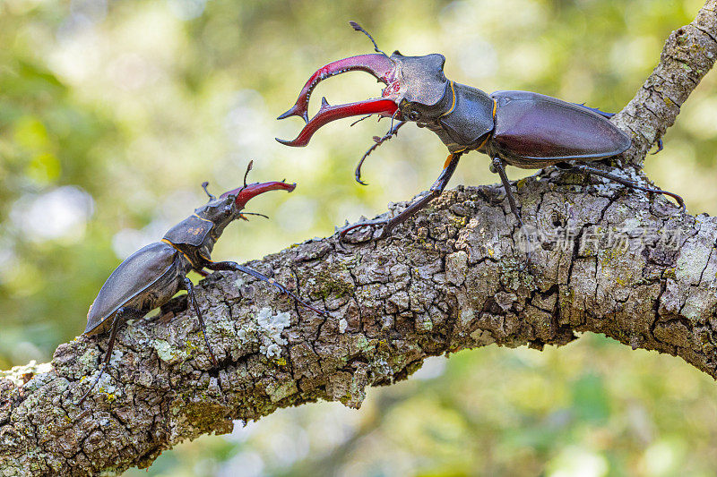
[[[519,167],[608,158],[630,138],[607,119],[573,103],[529,91],[497,91],[496,127],[488,153]]]

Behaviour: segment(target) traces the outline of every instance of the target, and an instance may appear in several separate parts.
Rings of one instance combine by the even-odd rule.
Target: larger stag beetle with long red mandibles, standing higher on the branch
[[[500,175],[510,208],[521,227],[523,220],[505,175],[506,164],[525,169],[555,165],[585,175],[599,175],[640,191],[669,195],[685,209],[684,200],[672,192],[643,187],[591,166],[567,162],[609,158],[630,147],[626,133],[608,121],[611,114],[529,91],[505,90],[488,95],[480,89],[446,79],[444,55],[404,56],[394,51],[389,56],[358,23],[350,21],[350,25],[367,35],[376,54],[351,56],[317,70],[301,89],[294,106],[278,117],[301,116],[306,123],[304,129],[294,141],[279,138],[277,141],[287,146],[306,146],[314,132],[337,119],[354,115],[379,115],[379,119],[391,117],[389,131],[382,138],[375,137],[376,144],[358,161],[356,180],[364,185],[361,181],[364,159],[407,122],[436,132],[450,154],[427,195],[390,220],[375,219],[346,227],[341,231],[341,237],[360,226],[384,226],[380,238],[390,235],[395,226],[443,192],[459,158],[471,150],[491,158],[490,169]],[[324,98],[319,112],[309,121],[308,101],[316,85],[326,78],[350,71],[368,72],[383,82],[386,87],[382,97],[338,106],[330,106]],[[398,120],[395,125],[393,119]]]

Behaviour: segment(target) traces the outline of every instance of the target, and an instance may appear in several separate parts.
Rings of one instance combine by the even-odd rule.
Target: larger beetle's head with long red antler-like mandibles
[[[363,31],[358,23],[350,22],[355,30]],[[373,38],[371,38],[373,41]],[[376,42],[374,42],[376,46]],[[306,122],[294,141],[277,141],[287,146],[306,146],[311,136],[324,124],[355,115],[395,116],[403,121],[427,122],[450,109],[452,101],[447,91],[449,81],[443,67],[445,56],[439,54],[404,56],[398,51],[388,56],[376,47],[379,53],[351,56],[324,65],[308,79],[298,95],[297,102],[278,119],[300,116]],[[308,120],[308,101],[316,85],[342,72],[362,71],[376,77],[386,86],[381,98],[367,99],[358,103],[331,106],[324,98],[319,112]]]

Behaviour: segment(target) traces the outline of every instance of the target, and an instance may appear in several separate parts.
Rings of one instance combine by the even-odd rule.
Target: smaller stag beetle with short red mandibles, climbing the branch
[[[250,162],[246,168],[247,175],[251,166]],[[191,280],[186,277],[186,274],[192,269],[203,276],[208,275],[204,268],[246,273],[272,284],[308,309],[324,314],[324,311],[318,311],[311,305],[302,302],[297,295],[289,292],[286,287],[276,283],[272,278],[265,277],[263,274],[233,261],[212,261],[210,259],[214,243],[217,242],[221,233],[224,232],[224,228],[230,222],[237,218],[246,220],[245,214],[261,215],[250,212],[242,213],[246,202],[263,192],[291,192],[296,188],[296,184],[271,182],[247,185],[245,175],[243,187],[224,192],[219,199],[207,191],[207,185],[208,183],[202,184],[204,192],[209,196],[207,204],[194,209],[194,214],[170,228],[160,242],[150,243],[143,249],[135,251],[119,264],[119,267],[112,272],[105,285],[102,285],[99,290],[97,298],[90,306],[90,311],[87,312],[87,328],[83,334],[98,335],[111,329],[108,349],[105,352],[99,375],[77,402],[77,405],[80,405],[90,394],[105,372],[112,356],[117,328],[127,319],[142,318],[150,311],[168,302],[182,289],[186,289],[188,299],[194,306],[194,311],[202,327],[204,343],[212,357],[212,363],[214,366],[218,365],[212,346],[207,339],[202,312],[199,311],[194,296],[194,287]]]

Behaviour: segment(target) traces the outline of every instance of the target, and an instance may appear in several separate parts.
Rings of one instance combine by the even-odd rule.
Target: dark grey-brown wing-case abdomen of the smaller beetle
[[[180,260],[176,260],[177,255],[177,250],[168,243],[155,242],[127,257],[115,268],[92,302],[84,333],[95,335],[107,330],[111,325],[108,318],[121,306],[146,313],[163,304],[147,308],[164,299],[164,295],[168,294],[168,300],[176,294],[178,286],[172,287],[166,282],[177,281],[181,265]]]

